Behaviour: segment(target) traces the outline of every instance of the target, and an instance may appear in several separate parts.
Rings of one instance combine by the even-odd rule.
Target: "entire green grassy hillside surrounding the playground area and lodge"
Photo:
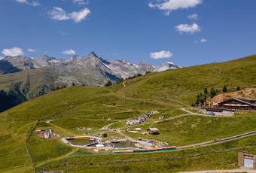
[[[78,149],[62,144],[59,139],[46,140],[38,138],[34,132],[35,128],[51,128],[62,136],[81,135],[78,127],[87,126],[93,132],[99,130],[106,124],[114,123],[113,126],[123,127],[123,120],[136,117],[148,111],[158,111],[148,123],[157,120],[158,116],[166,118],[175,117],[186,112],[180,108],[189,108],[198,93],[205,87],[221,89],[227,85],[228,89],[236,86],[256,85],[256,56],[244,59],[236,59],[230,62],[213,63],[209,65],[198,65],[189,68],[164,71],[160,73],[147,74],[132,80],[125,80],[114,86],[108,87],[68,87],[57,90],[47,95],[24,102],[8,111],[0,114],[0,165],[1,172],[32,172],[33,165],[41,170],[45,167],[66,170],[66,162],[105,162],[111,159],[136,159],[150,156],[170,156],[171,153],[154,153],[150,155],[129,156],[88,156],[89,151]],[[2,80],[1,80],[2,81]],[[105,121],[105,117],[112,120]],[[236,118],[218,119],[214,117],[181,117],[154,123],[163,134],[157,136],[159,140],[165,140],[169,144],[194,144],[212,140],[212,138],[228,137],[242,132],[255,130],[256,113],[239,114]],[[45,123],[47,120],[53,120]],[[145,125],[148,126],[148,125]],[[241,128],[241,126],[243,126]],[[125,127],[123,127],[125,128]],[[250,137],[230,144],[221,144],[215,147],[206,147],[191,153],[215,150],[216,148],[230,148],[242,146],[254,146],[256,138]],[[166,155],[165,155],[166,154]],[[180,156],[181,151],[173,153]],[[210,162],[214,156],[215,162]],[[31,157],[31,159],[30,159]],[[195,168],[221,168],[221,159],[225,158],[225,168],[236,167],[236,151],[226,153],[208,153],[195,156],[210,163],[202,165],[193,158],[181,159],[174,162],[156,162],[152,165],[136,164],[133,162],[113,165],[108,164],[108,172],[114,170],[126,171],[156,171],[162,166],[163,171],[193,170]],[[154,163],[154,164],[153,164]],[[180,164],[182,163],[182,164]],[[64,165],[63,165],[64,164]],[[69,172],[95,171],[96,165],[70,165]],[[103,171],[100,169],[99,171]]]

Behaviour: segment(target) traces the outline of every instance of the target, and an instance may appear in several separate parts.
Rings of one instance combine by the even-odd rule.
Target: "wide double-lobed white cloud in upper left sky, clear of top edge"
[[[66,11],[64,11],[62,8],[53,7],[53,10],[48,12],[48,16],[52,20],[58,20],[58,21],[74,20],[75,23],[81,22],[89,14],[90,14],[90,10],[88,8],[84,8],[81,11],[78,11],[78,12],[74,11],[72,13],[67,14]]]

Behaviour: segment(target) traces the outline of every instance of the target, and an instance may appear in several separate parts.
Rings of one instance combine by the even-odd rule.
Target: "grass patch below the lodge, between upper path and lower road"
[[[160,135],[139,135],[136,133],[126,133],[126,135],[132,138],[153,138],[159,141],[167,141],[170,146],[183,146],[254,131],[256,130],[255,123],[256,117],[188,116],[160,123],[136,126],[144,131],[149,127],[157,127]]]

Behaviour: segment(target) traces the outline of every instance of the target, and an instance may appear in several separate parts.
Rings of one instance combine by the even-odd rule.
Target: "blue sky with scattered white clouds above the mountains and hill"
[[[1,0],[0,56],[188,66],[256,53],[254,0]],[[16,49],[12,49],[17,47]]]

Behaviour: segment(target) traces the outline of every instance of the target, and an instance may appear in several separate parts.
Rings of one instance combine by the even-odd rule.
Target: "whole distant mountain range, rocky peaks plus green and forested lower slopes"
[[[35,58],[6,56],[0,60],[0,90],[3,91],[0,93],[0,99],[6,100],[11,96],[11,100],[15,100],[11,105],[17,105],[59,87],[105,86],[106,83],[118,83],[138,74],[173,68],[180,67],[172,62],[154,66],[147,62],[133,64],[126,60],[110,61],[102,59],[94,52],[87,56],[75,55],[67,59],[46,55]]]

